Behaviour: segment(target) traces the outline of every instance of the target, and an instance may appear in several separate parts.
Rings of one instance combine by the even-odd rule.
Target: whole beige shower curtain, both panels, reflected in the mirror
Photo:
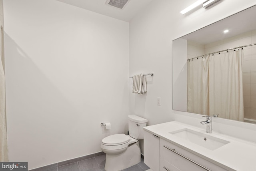
[[[243,58],[236,50],[190,60],[187,111],[243,121]]]

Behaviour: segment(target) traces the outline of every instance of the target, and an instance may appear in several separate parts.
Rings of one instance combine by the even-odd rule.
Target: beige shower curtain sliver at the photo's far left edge
[[[0,45],[0,161],[8,161],[6,111],[5,111],[5,76],[4,76],[4,41],[1,27]]]

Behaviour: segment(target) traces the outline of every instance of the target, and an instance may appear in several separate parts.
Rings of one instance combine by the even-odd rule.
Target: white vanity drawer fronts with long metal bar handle
[[[160,171],[226,171],[226,169],[160,139]]]

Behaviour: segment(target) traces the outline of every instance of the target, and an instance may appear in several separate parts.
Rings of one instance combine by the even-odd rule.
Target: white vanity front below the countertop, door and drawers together
[[[152,171],[227,171],[145,130],[144,163]]]

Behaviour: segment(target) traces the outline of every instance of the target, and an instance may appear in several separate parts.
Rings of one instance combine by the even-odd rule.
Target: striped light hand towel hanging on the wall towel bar
[[[146,77],[143,74],[133,76],[132,93],[143,94],[147,92]]]

